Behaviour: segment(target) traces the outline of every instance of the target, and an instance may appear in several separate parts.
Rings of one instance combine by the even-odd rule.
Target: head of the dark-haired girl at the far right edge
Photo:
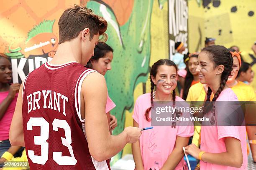
[[[242,62],[236,80],[246,82],[248,84],[253,81],[253,77],[254,73],[253,70],[251,70],[251,65],[248,62]]]

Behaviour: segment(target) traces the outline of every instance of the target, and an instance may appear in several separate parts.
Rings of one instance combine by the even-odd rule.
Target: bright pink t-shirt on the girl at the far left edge
[[[9,91],[0,92],[0,103],[5,100]],[[17,102],[18,93],[15,95],[13,101],[10,103],[9,107],[5,111],[2,119],[0,119],[0,140],[7,140],[9,139],[9,131],[10,131],[10,124],[13,119],[13,113],[15,110],[16,102]]]

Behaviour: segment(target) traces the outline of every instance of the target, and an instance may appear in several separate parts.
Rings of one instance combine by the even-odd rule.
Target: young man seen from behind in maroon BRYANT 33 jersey
[[[139,139],[135,127],[110,135],[105,78],[83,67],[106,30],[107,22],[86,7],[65,10],[54,58],[23,81],[9,137],[26,147],[31,170],[110,169],[105,160]]]

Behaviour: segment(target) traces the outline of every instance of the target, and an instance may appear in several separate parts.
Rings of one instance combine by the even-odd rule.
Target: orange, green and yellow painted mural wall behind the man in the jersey
[[[107,43],[114,49],[114,60],[105,78],[109,95],[117,105],[111,114],[118,119],[118,127],[113,132],[118,134],[125,126],[133,125],[134,100],[148,92],[150,66],[160,58],[169,58],[169,40],[175,37],[168,36],[168,1],[5,1],[0,5],[0,24],[3,25],[0,52],[11,59],[13,82],[22,82],[29,72],[54,57],[59,40],[59,17],[73,4],[87,6],[108,21]],[[179,25],[175,30],[177,35],[184,32]],[[131,153],[130,146],[123,154]],[[121,155],[119,153],[114,160]]]

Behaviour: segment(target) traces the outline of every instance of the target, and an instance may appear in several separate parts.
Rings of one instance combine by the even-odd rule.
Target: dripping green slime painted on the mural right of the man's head
[[[102,2],[102,1],[100,1]],[[116,107],[111,110],[118,120],[113,134],[124,129],[125,110],[133,110],[133,91],[140,82],[146,82],[150,59],[150,22],[153,0],[134,0],[129,20],[118,25],[113,10],[97,1],[87,2],[87,7],[108,21],[108,45],[114,49],[112,70],[105,75],[108,92]],[[115,156],[121,158],[121,153]]]

